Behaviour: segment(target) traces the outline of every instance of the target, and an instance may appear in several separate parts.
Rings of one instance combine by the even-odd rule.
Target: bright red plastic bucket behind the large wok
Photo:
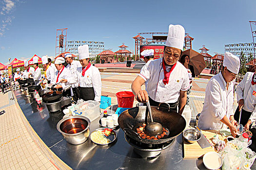
[[[131,91],[120,91],[116,93],[118,98],[118,107],[132,108],[134,102],[134,94]]]

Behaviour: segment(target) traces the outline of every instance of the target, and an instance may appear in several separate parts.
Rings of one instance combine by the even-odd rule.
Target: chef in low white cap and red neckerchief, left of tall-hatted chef
[[[64,67],[65,59],[63,57],[58,57],[55,60],[55,67],[57,71],[55,72],[55,79],[52,84],[56,84],[55,88],[64,89],[68,85],[76,83],[75,76],[71,74],[70,70]],[[62,92],[63,96],[71,96],[71,89]]]

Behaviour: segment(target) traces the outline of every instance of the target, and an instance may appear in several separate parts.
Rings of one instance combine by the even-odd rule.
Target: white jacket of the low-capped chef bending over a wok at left
[[[72,76],[71,72],[69,69],[65,68],[62,70],[62,72],[59,74],[59,78],[58,78],[58,82],[57,81],[57,77],[58,77],[58,73],[59,71],[57,70],[55,72],[55,78],[54,78],[54,81],[51,82],[52,84],[57,84],[59,83],[59,81],[61,79],[66,79],[67,80],[67,83],[59,83],[59,85],[62,86],[62,88],[64,89],[67,85],[72,85],[74,83],[76,83],[76,79],[75,79],[75,76]]]

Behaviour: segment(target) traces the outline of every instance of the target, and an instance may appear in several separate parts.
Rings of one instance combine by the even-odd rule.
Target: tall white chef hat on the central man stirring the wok
[[[166,40],[167,47],[174,47],[183,51],[185,29],[181,25],[169,25],[168,36]]]

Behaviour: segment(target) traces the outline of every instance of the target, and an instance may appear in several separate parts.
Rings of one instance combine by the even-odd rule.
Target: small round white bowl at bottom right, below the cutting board
[[[203,164],[209,170],[217,170],[222,166],[223,159],[220,154],[209,152],[203,155]]]

